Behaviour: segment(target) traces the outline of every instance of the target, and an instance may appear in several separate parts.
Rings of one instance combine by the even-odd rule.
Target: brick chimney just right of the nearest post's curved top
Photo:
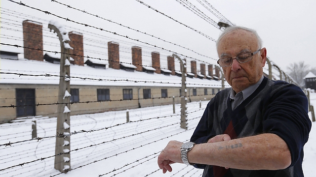
[[[74,61],[70,61],[72,64],[78,64],[83,66],[83,35],[79,32],[69,32],[68,36],[70,38],[69,45],[74,48],[73,50],[70,50],[71,54],[76,54],[76,56],[72,55],[71,58],[74,59]]]

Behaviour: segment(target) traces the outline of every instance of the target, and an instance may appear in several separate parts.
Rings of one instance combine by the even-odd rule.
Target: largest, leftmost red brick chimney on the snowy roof
[[[43,25],[39,22],[34,22],[31,20],[23,21],[23,40],[24,47],[29,47],[32,49],[24,48],[24,58],[42,61],[43,56]],[[40,50],[34,50],[40,49]]]

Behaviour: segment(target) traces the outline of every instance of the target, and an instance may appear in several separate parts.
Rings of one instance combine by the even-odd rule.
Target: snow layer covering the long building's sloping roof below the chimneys
[[[121,63],[123,64],[123,63]],[[124,65],[126,65],[124,63]],[[14,66],[14,67],[13,67]],[[181,87],[181,77],[146,72],[129,72],[123,69],[108,68],[104,70],[95,69],[93,67],[71,65],[70,76],[91,79],[71,78],[71,85],[86,85],[86,86],[148,86],[148,87]],[[1,59],[1,71],[21,74],[33,75],[58,75],[60,65],[50,63],[47,61],[36,61],[28,59]],[[110,81],[97,81],[98,79],[108,79]],[[116,80],[116,81],[114,81]],[[122,81],[119,81],[122,80]],[[128,82],[126,81],[128,80]],[[135,82],[138,81],[138,82]],[[146,81],[141,82],[141,81]],[[151,83],[151,82],[156,83]],[[157,82],[162,82],[157,83]],[[171,84],[167,84],[167,83]],[[221,88],[221,82],[206,79],[187,78],[186,82],[190,87],[199,88]],[[164,84],[165,83],[165,84]],[[179,83],[175,85],[172,83]],[[13,74],[0,74],[0,84],[59,84],[59,77],[45,77],[45,76],[20,76]],[[226,87],[229,87],[225,83]],[[36,86],[34,86],[36,87]]]

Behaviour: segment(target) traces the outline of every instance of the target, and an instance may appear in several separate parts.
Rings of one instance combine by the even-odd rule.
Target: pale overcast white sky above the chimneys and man
[[[20,0],[14,0],[20,2]],[[49,20],[56,20],[60,24],[67,26],[67,29],[81,32],[90,45],[84,45],[84,55],[108,59],[104,53],[107,49],[93,47],[95,45],[106,46],[109,41],[116,41],[120,47],[125,47],[125,53],[120,52],[123,61],[131,62],[130,48],[134,45],[143,48],[143,64],[151,62],[150,52],[160,52],[161,66],[166,65],[166,56],[172,55],[171,52],[162,51],[159,48],[138,43],[126,37],[114,35],[116,32],[129,38],[138,39],[142,42],[156,45],[158,47],[177,52],[194,59],[204,61],[205,63],[215,64],[218,58],[215,42],[197,33],[196,31],[185,27],[166,16],[148,8],[137,0],[57,0],[64,4],[84,10],[99,17],[112,20],[124,26],[138,29],[148,34],[154,35],[168,42],[175,43],[192,51],[186,50],[174,44],[166,43],[156,38],[144,35],[142,33],[123,28],[119,25],[110,23],[101,18],[88,15],[78,10],[67,8],[51,0],[21,0],[22,3],[48,11],[63,18],[74,20],[75,22],[87,24],[92,27],[85,27],[74,22],[48,15],[39,10],[32,9],[23,5],[18,5],[9,0],[1,0],[1,42],[9,44],[23,45],[20,40],[7,39],[4,35],[20,36],[21,32],[14,31],[6,23],[22,24],[23,20],[29,19],[43,23],[43,29],[47,29]],[[173,19],[196,29],[207,36],[217,40],[221,30],[207,23],[198,17],[192,11],[181,5],[179,0],[142,0],[144,3],[157,9],[158,11],[172,17]],[[185,0],[184,0],[185,1]],[[200,5],[197,0],[188,0],[194,4],[200,11],[208,17],[218,22],[219,19],[214,16],[205,7]],[[290,63],[304,60],[311,67],[315,67],[315,47],[316,47],[316,0],[208,0],[208,2],[230,22],[238,26],[244,26],[256,29],[263,40],[264,47],[267,48],[268,57],[276,63],[281,69],[287,70]],[[15,12],[13,12],[15,11]],[[14,14],[13,14],[14,13]],[[21,15],[20,13],[24,14]],[[15,17],[17,16],[17,17]],[[37,17],[38,19],[35,19]],[[5,18],[5,19],[4,19]],[[12,19],[14,21],[6,20]],[[93,28],[95,27],[95,28]],[[13,27],[12,27],[13,28]],[[15,27],[20,28],[21,27]],[[111,32],[101,31],[96,28],[102,28]],[[13,28],[14,29],[14,28]],[[90,33],[92,32],[92,34]],[[49,33],[49,32],[47,32]],[[52,32],[51,32],[52,33]],[[45,31],[43,31],[45,35]],[[101,37],[97,37],[102,35]],[[88,41],[84,39],[84,43]],[[44,49],[58,50],[58,47],[46,45],[51,39],[44,37]],[[104,41],[104,44],[98,44],[96,40]],[[56,44],[59,41],[54,41]],[[129,51],[129,52],[128,52]],[[197,54],[198,53],[198,54]],[[203,57],[208,56],[208,57]],[[212,58],[212,59],[210,59]],[[146,63],[147,62],[147,63]],[[197,61],[199,63],[200,61]],[[197,64],[199,66],[199,64]]]

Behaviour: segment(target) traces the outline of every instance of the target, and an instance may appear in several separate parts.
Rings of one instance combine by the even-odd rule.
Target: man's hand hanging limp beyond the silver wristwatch
[[[170,141],[168,145],[160,152],[158,156],[158,166],[162,169],[162,173],[171,172],[171,164],[183,163],[181,159],[182,142]]]

